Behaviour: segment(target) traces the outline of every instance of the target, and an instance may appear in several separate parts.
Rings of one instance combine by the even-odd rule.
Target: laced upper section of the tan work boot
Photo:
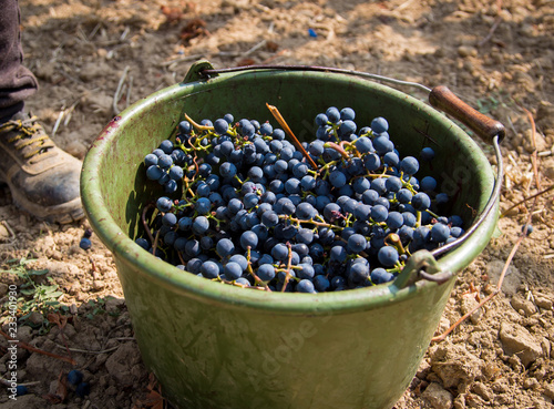
[[[13,132],[13,135],[8,137],[8,143],[13,144],[13,147],[20,151],[25,160],[47,154],[51,147],[54,147],[54,143],[37,121],[37,116],[31,116],[25,120],[8,121],[0,125],[0,134]]]

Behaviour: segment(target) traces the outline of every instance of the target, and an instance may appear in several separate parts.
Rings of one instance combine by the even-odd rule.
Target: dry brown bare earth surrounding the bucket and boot
[[[554,184],[552,0],[21,0],[20,7],[25,64],[41,85],[28,108],[79,159],[113,115],[179,82],[201,58],[216,68],[311,64],[444,84],[504,123],[501,233],[460,273],[438,335],[493,292],[529,217],[533,233],[511,259],[502,292],[429,346],[396,408],[554,408],[554,208],[552,191],[541,193]],[[18,267],[23,259],[31,259],[35,285],[61,292],[50,297],[64,306],[49,316],[42,301],[27,300],[35,311],[19,327],[19,340],[55,356],[19,348],[18,378],[29,393],[13,401],[2,388],[0,406],[167,407],[141,361],[111,253],[95,235],[91,249],[79,246],[88,222],[39,222],[11,204],[6,185],[0,222],[1,317],[9,285],[31,279]],[[3,378],[8,347],[1,338]],[[63,380],[73,368],[90,384],[84,398]]]

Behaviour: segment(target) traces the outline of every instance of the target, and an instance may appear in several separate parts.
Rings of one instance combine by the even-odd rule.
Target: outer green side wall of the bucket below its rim
[[[390,408],[428,347],[450,285],[363,314],[225,308],[117,259],[143,359],[179,408]],[[202,278],[198,278],[202,279]]]

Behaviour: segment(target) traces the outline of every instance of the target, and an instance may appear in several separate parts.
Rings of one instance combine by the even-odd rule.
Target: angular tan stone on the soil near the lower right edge
[[[500,340],[506,355],[515,355],[527,367],[543,355],[543,348],[521,325],[502,323]]]

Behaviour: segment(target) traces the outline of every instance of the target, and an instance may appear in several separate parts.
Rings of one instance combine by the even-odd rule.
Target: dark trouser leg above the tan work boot
[[[21,111],[24,100],[34,94],[38,82],[22,65],[17,0],[0,0],[0,120]]]

